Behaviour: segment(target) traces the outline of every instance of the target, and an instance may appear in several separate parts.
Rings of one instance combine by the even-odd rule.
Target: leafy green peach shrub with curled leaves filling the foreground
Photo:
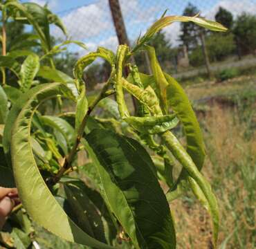
[[[226,28],[200,17],[161,17],[133,48],[120,45],[113,53],[99,47],[78,59],[69,77],[55,69],[53,55],[70,43],[84,44],[67,40],[51,46],[50,24],[65,33],[60,19],[36,3],[6,1],[1,8],[3,25],[6,15],[33,25],[44,51],[41,57],[33,50],[13,54],[5,50],[2,39],[0,149],[5,156],[1,156],[0,181],[8,187],[16,183],[27,212],[15,211],[16,225],[9,220],[15,246],[30,247],[31,218],[67,241],[93,248],[176,248],[169,203],[188,189],[212,216],[216,246],[219,212],[210,184],[200,172],[205,148],[199,122],[185,91],[162,71],[154,47],[147,44],[174,21],[193,21],[215,31]],[[5,28],[3,37],[4,32]],[[153,75],[139,73],[129,62],[140,50],[148,53]],[[17,64],[20,56],[25,59]],[[84,69],[98,57],[110,65],[111,73],[102,89],[89,96]],[[40,65],[43,60],[48,66]],[[8,85],[6,68],[17,76],[15,86]],[[47,83],[42,84],[42,78]],[[135,113],[124,90],[134,98]],[[66,99],[68,108],[62,101]],[[48,108],[40,109],[42,103]],[[96,115],[98,107],[104,118]],[[179,122],[187,136],[186,149],[172,132]],[[86,152],[85,162],[78,152]],[[174,158],[183,166],[178,177],[172,174]],[[82,181],[82,174],[87,181]],[[15,183],[6,182],[7,175],[14,176]],[[159,180],[169,187],[166,194]]]

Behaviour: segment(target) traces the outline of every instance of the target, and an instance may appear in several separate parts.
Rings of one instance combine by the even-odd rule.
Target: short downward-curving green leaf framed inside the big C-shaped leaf
[[[48,125],[53,129],[57,129],[57,131],[60,131],[60,133],[62,133],[62,135],[66,139],[68,146],[72,147],[75,142],[75,131],[71,124],[68,124],[66,120],[57,116],[41,116],[40,120],[43,122],[44,125]]]

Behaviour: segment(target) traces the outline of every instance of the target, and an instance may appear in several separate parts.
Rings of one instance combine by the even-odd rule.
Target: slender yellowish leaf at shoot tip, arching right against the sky
[[[155,35],[158,31],[160,31],[162,28],[165,28],[166,26],[174,23],[174,21],[182,21],[182,22],[188,22],[192,21],[194,24],[197,24],[203,28],[208,28],[209,30],[212,31],[221,31],[224,32],[227,30],[224,26],[221,24],[217,23],[216,21],[209,21],[207,19],[204,19],[203,17],[182,17],[182,16],[167,16],[167,17],[162,17],[158,21],[156,21],[148,30],[143,37],[141,37],[137,45],[134,47],[132,52],[135,52],[145,44],[145,42],[149,42],[149,40]]]

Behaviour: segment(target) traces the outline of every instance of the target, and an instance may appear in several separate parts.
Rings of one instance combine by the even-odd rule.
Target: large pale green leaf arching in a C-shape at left
[[[24,104],[12,129],[12,167],[19,197],[35,222],[62,239],[95,248],[112,248],[90,237],[68,218],[48,190],[35,164],[30,142],[33,113],[42,101],[56,95],[70,95],[70,90],[60,83],[40,85]]]

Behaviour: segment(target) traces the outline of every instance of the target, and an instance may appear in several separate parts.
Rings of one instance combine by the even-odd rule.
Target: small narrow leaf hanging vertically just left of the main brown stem
[[[82,87],[82,91],[77,98],[77,104],[75,107],[75,134],[77,136],[80,124],[86,116],[88,111],[88,101],[85,95],[85,87]]]

